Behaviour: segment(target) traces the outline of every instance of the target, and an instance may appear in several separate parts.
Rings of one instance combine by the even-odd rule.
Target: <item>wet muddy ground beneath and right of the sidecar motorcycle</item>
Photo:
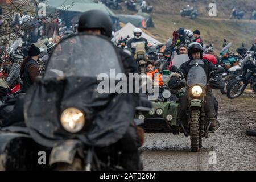
[[[220,129],[203,139],[200,152],[190,152],[190,138],[183,134],[147,133],[142,147],[145,170],[256,170],[256,97],[249,93],[229,100],[219,92]],[[215,158],[216,156],[216,158]]]

